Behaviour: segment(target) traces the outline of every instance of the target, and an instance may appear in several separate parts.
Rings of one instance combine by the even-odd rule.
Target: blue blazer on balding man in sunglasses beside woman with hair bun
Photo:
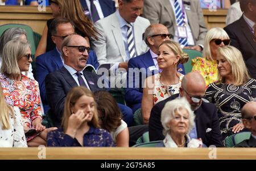
[[[157,74],[159,72],[158,70],[150,71],[150,66],[155,66],[155,63],[150,54],[150,50],[148,50],[144,54],[138,55],[138,57],[131,58],[128,62],[128,69],[146,69],[142,70],[142,75],[139,75],[139,77],[134,75],[133,70],[128,70],[127,72],[127,88],[125,89],[125,100],[127,102],[127,105],[131,106],[134,111],[141,108],[143,93],[142,84],[144,83],[144,78],[147,78],[148,76]],[[183,65],[179,64],[177,69],[182,70],[180,71],[180,73],[185,75]]]

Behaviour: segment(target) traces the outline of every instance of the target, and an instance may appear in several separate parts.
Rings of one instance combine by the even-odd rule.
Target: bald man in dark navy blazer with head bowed
[[[206,146],[222,147],[220,122],[218,121],[216,106],[202,99],[205,93],[204,78],[198,72],[189,72],[181,82],[180,94],[173,95],[158,102],[150,113],[148,131],[150,141],[163,140],[163,126],[160,121],[161,112],[167,101],[185,97],[195,113],[195,127],[189,132],[191,138],[201,138]]]

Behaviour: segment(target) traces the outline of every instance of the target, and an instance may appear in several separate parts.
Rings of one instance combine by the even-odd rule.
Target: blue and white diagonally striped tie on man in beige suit
[[[175,16],[176,16],[176,22],[178,26],[184,26],[184,14],[181,10],[181,7],[179,5],[179,2],[177,0],[174,1],[174,8],[175,8]],[[188,45],[188,39],[187,38],[179,38],[179,43],[181,45],[187,46]]]

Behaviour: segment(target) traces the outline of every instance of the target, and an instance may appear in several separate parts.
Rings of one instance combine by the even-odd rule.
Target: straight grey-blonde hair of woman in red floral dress
[[[2,66],[0,71],[7,76],[14,76],[21,73],[18,60],[26,55],[30,44],[22,40],[10,40],[3,46]]]

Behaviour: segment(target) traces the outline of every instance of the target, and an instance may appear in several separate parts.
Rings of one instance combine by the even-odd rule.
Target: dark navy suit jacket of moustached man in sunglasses
[[[98,79],[101,79],[100,75],[84,71],[84,77],[92,92],[102,90],[97,84]],[[46,76],[47,101],[51,108],[54,126],[60,126],[66,96],[69,90],[76,86],[78,85],[75,79],[64,66]]]

